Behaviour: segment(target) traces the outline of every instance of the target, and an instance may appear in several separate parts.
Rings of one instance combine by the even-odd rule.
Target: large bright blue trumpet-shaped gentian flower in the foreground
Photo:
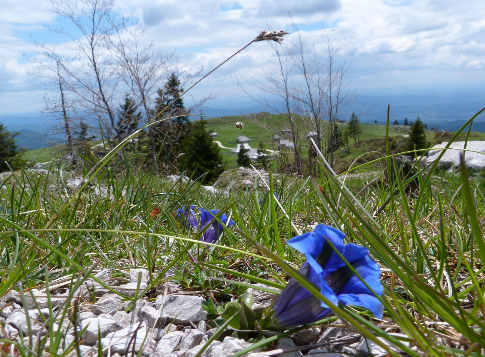
[[[318,225],[312,232],[294,237],[288,244],[305,254],[307,261],[299,272],[320,289],[334,305],[368,308],[382,318],[383,305],[339,257],[330,242],[375,292],[382,295],[379,265],[369,257],[366,247],[344,244],[345,234],[333,227]],[[272,307],[279,326],[310,324],[332,314],[332,310],[307,289],[291,279]]]

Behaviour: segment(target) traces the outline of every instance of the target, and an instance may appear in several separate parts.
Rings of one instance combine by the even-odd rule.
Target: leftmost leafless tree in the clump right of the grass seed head
[[[258,79],[249,81],[250,85],[270,95],[270,98],[261,96],[256,97],[250,94],[239,80],[238,85],[241,90],[253,100],[283,116],[283,123],[278,123],[273,120],[265,122],[264,120],[259,119],[254,120],[254,122],[265,129],[278,133],[284,128],[288,128],[290,130],[290,137],[294,145],[294,163],[289,162],[289,158],[286,153],[281,160],[284,162],[284,166],[287,168],[291,168],[291,166],[294,165],[297,174],[302,175],[303,158],[301,147],[299,145],[301,126],[299,125],[299,122],[301,121],[301,118],[299,115],[294,113],[294,94],[290,78],[293,65],[289,59],[288,49],[283,49],[282,51],[276,45],[273,45],[273,49],[275,51],[276,60],[274,62],[270,62],[270,66],[265,71],[260,73],[260,77]],[[283,124],[283,127],[281,124]],[[281,164],[282,163],[280,163],[280,167]]]

